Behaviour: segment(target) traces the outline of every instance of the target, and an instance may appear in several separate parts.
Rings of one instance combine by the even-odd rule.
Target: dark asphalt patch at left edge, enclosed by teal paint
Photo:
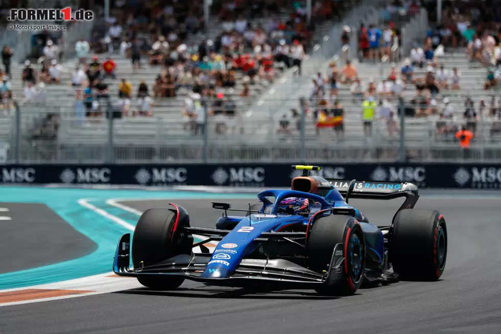
[[[79,258],[97,248],[44,204],[0,203],[0,207],[9,210],[2,215],[12,218],[0,221],[0,274]]]

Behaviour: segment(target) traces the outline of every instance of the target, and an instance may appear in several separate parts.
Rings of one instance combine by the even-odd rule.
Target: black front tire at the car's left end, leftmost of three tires
[[[186,213],[181,207],[178,207],[178,210]],[[178,210],[149,209],[141,215],[132,236],[134,269],[152,265],[176,255],[191,254],[193,237],[182,231],[182,227],[189,227],[189,217],[185,215],[185,219],[178,219]],[[175,289],[184,280],[183,277],[168,275],[138,277],[141,284],[156,290]]]

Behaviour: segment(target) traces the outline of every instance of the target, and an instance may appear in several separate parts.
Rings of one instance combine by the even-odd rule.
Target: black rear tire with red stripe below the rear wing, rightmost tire
[[[402,280],[436,281],[447,259],[447,226],[440,212],[405,209],[395,217],[390,260]]]

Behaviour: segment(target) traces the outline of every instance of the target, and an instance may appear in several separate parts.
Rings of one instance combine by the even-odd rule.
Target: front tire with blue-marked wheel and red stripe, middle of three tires
[[[324,283],[315,291],[323,295],[353,295],[362,284],[366,266],[365,237],[355,218],[329,215],[313,222],[306,246],[308,268],[320,274],[328,272],[337,243],[344,245],[343,277],[334,285]]]

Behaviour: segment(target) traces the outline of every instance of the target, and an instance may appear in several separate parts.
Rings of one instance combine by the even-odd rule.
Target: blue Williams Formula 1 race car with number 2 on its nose
[[[291,190],[262,191],[259,204],[241,210],[214,202],[214,209],[224,211],[215,229],[191,227],[186,210],[175,204],[145,211],[132,245],[130,234],[120,239],[113,271],[156,290],[172,290],[189,279],[239,287],[278,283],[282,289],[312,288],[328,295],[353,294],[363,281],[442,275],[445,220],[438,211],[413,209],[419,197],[415,185],[326,180],[308,175],[320,167],[292,167],[303,175],[292,179]],[[348,205],[350,198],[397,197],[405,202],[393,221],[382,225]],[[193,235],[208,239],[194,243]],[[211,240],[219,241],[212,253],[204,246]],[[201,253],[194,254],[197,246]]]

